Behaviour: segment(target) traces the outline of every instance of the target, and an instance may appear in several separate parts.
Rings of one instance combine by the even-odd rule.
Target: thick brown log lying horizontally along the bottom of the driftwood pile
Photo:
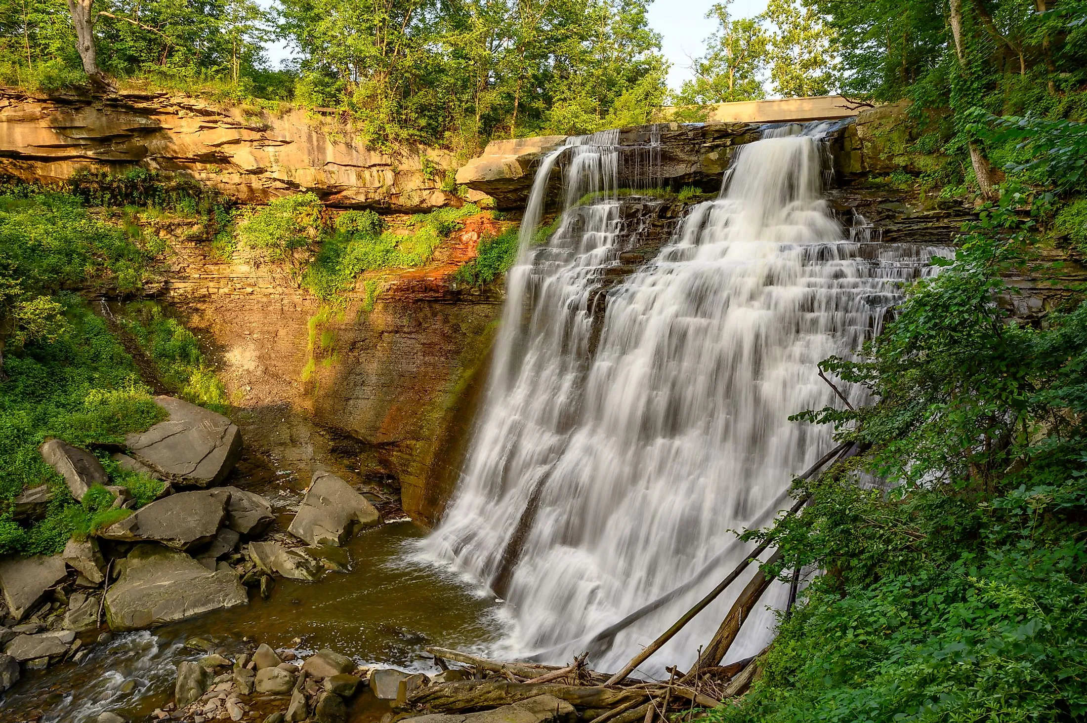
[[[623,690],[600,686],[561,685],[558,683],[508,683],[505,681],[463,681],[435,683],[413,691],[405,707],[460,713],[508,706],[536,696],[554,696],[577,708],[614,708],[632,697],[644,699],[641,690]]]

